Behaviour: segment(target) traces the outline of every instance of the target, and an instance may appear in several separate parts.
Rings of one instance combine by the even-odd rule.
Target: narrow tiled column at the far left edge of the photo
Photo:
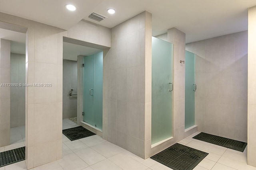
[[[10,40],[0,39],[0,147],[10,145]]]

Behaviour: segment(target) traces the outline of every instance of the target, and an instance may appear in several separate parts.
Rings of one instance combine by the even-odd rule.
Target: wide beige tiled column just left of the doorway
[[[30,21],[26,33],[26,164],[62,158],[62,33]],[[36,84],[42,83],[39,87]]]

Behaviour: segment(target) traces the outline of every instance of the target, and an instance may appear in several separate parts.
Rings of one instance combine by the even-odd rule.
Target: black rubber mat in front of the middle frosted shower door
[[[173,170],[192,170],[208,153],[176,143],[155,154],[151,159]]]

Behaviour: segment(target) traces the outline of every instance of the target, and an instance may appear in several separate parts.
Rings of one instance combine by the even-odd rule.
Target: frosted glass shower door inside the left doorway
[[[84,57],[83,121],[102,129],[103,52]]]

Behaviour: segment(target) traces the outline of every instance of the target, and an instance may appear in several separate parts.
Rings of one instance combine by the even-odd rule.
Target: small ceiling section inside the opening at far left
[[[0,39],[11,40],[11,53],[26,54],[26,34],[0,28]]]

